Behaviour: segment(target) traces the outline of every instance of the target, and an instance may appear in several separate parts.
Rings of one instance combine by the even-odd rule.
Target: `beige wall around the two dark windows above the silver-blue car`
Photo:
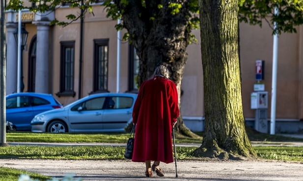
[[[59,21],[65,21],[65,16],[75,12],[70,8],[59,8],[56,10],[55,18]],[[106,18],[105,11],[100,5],[94,6],[94,16],[87,13],[83,19],[83,75],[82,75],[82,95],[86,96],[93,91],[93,59],[94,59],[94,40],[109,39],[109,70],[108,70],[108,91],[116,92],[116,76],[117,76],[117,31],[115,29],[116,21]],[[54,67],[53,74],[53,92],[59,91],[60,74],[57,72],[60,68],[60,42],[75,41],[75,97],[58,97],[58,100],[67,105],[78,99],[79,89],[79,59],[80,59],[80,21],[71,23],[65,27],[54,26]],[[124,31],[121,31],[123,37]],[[121,38],[122,39],[122,38]],[[120,59],[120,92],[127,91],[128,85],[128,42],[120,41],[121,59]]]

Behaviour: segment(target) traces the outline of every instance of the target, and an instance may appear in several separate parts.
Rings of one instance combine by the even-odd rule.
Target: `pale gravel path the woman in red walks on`
[[[162,163],[165,177],[145,178],[145,164],[128,160],[0,159],[0,166],[83,181],[303,181],[303,162],[267,160],[193,160]]]

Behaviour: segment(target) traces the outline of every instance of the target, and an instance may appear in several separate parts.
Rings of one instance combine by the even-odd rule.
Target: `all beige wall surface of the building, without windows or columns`
[[[82,60],[82,89],[80,97],[93,91],[93,59],[95,39],[109,39],[109,84],[108,91],[115,92],[117,75],[117,31],[114,28],[116,21],[106,18],[106,11],[99,4],[94,7],[94,16],[87,13],[83,24],[83,60]],[[61,7],[55,11],[55,19],[66,21],[65,16],[71,13],[80,13],[78,9]],[[32,22],[25,22],[29,32],[26,50],[24,51],[24,83],[28,90],[28,46],[30,40],[37,33]],[[298,33],[281,34],[278,43],[277,67],[277,119],[303,118],[303,28],[298,27]],[[121,37],[125,30],[121,32]],[[188,60],[182,80],[181,113],[183,116],[204,116],[203,97],[203,68],[200,49],[199,30],[193,30],[198,42],[187,48]],[[60,42],[75,41],[74,91],[76,95],[56,96],[60,91]],[[49,50],[49,87],[50,92],[63,104],[67,105],[79,97],[79,66],[80,66],[80,20],[65,27],[54,25],[50,27]],[[129,75],[129,43],[120,41],[120,92],[128,91]],[[269,93],[268,117],[271,113],[271,86],[272,86],[272,56],[273,36],[272,29],[264,22],[263,27],[240,24],[240,57],[242,75],[243,111],[246,118],[254,118],[254,110],[250,109],[250,94],[253,92],[255,81],[255,60],[265,60],[265,91]],[[38,61],[38,60],[37,60]],[[7,70],[9,71],[9,70]],[[14,71],[14,70],[12,70]]]

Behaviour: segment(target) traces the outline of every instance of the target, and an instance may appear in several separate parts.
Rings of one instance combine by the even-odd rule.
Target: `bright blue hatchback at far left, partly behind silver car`
[[[13,123],[17,131],[30,131],[30,121],[36,114],[62,107],[52,94],[13,93],[6,96],[6,121]]]

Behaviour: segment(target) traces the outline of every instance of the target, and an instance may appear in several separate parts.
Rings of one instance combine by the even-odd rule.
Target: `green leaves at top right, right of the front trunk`
[[[240,22],[262,26],[265,20],[278,34],[297,32],[296,27],[303,24],[303,0],[242,0],[239,2]],[[275,7],[278,14],[274,14]],[[273,24],[278,24],[274,29]]]

